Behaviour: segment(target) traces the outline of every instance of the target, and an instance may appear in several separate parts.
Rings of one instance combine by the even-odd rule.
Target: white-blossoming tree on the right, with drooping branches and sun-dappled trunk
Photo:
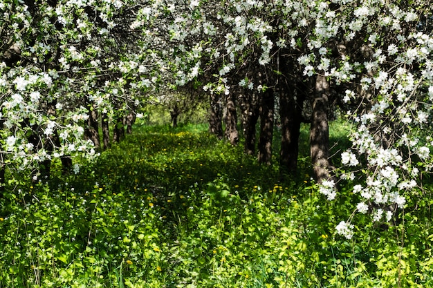
[[[194,19],[194,29],[175,33],[205,35],[196,37],[202,39],[194,48],[199,51],[196,58],[208,52],[208,59],[215,59],[211,64],[221,67],[215,80],[205,84],[206,90],[230,94],[248,86],[263,92],[277,87],[277,75],[290,74],[283,73],[279,63],[284,61],[295,73],[300,65],[295,88],[313,81],[311,157],[320,191],[329,200],[338,193],[327,152],[327,113],[331,97],[336,97],[336,102],[346,104],[342,108],[353,124],[353,147],[342,153],[348,169],[338,176],[360,183],[353,187],[359,201],[356,211],[371,209],[374,220],[390,220],[407,197],[421,196],[414,188],[421,172],[430,169],[432,144],[423,130],[429,126],[433,89],[430,1],[232,0],[223,1],[216,17],[208,3],[192,1],[185,14],[189,16],[177,19],[176,27],[190,27],[187,24]],[[212,2],[215,5],[218,2]],[[218,33],[223,41],[214,37]],[[209,64],[194,63],[203,71]],[[243,72],[242,66],[263,67],[264,77],[253,81],[251,70]],[[230,71],[236,71],[234,81]],[[260,70],[255,71],[258,75]],[[338,232],[351,238],[351,224],[340,223]]]

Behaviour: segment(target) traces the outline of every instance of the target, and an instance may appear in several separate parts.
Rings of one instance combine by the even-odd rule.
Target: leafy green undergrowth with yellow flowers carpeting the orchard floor
[[[0,199],[0,287],[433,285],[429,189],[395,222],[371,222],[352,215],[351,180],[326,201],[308,159],[281,177],[207,130],[137,126],[80,173],[15,177]],[[351,217],[353,238],[335,233]]]

